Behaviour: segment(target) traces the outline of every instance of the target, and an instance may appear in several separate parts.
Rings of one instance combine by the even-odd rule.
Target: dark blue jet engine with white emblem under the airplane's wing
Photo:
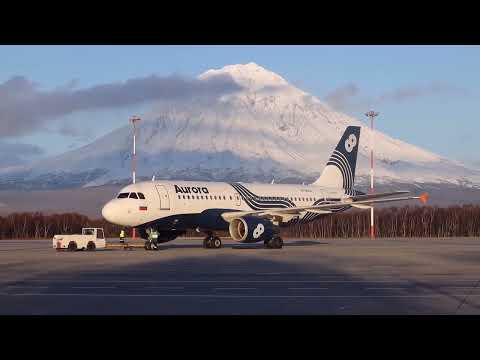
[[[255,216],[246,216],[233,219],[228,227],[233,240],[254,243],[271,239],[275,234],[275,227],[268,220]]]

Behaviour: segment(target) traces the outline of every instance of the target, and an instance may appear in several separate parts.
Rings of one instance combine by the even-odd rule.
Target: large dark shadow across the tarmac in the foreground
[[[186,246],[190,247],[175,244],[169,248]],[[435,298],[364,296],[368,286],[365,282],[370,279],[322,264],[321,257],[314,263],[294,263],[285,249],[262,250],[272,255],[268,259],[259,258],[257,253],[250,257],[219,253],[213,249],[205,251],[209,252],[208,256],[185,257],[178,253],[173,259],[162,257],[162,251],[149,252],[150,256],[141,259],[141,263],[122,265],[119,262],[111,266],[102,263],[100,253],[80,260],[65,257],[64,261],[80,261],[81,266],[77,263],[68,271],[52,269],[38,276],[29,276],[29,272],[24,271],[23,280],[8,284],[8,288],[3,285],[0,292],[16,295],[0,295],[0,313],[442,313]],[[32,284],[37,288],[28,288]]]

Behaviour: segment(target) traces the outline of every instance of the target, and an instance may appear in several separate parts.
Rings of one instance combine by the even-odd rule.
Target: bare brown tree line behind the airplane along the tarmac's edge
[[[92,220],[77,213],[13,213],[0,216],[0,239],[49,239],[55,234],[80,233],[83,227],[103,227],[107,237],[118,237],[122,229],[103,219]],[[377,237],[480,236],[480,206],[379,208],[375,210],[375,228]],[[370,212],[358,210],[281,229],[284,238],[349,238],[369,234]],[[189,235],[198,236],[194,232],[188,232]]]

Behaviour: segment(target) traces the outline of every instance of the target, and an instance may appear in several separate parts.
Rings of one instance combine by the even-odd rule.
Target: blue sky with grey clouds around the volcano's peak
[[[0,58],[0,167],[92,142],[158,97],[234,91],[195,77],[249,62],[356,118],[374,108],[390,136],[480,166],[480,46],[0,46]]]

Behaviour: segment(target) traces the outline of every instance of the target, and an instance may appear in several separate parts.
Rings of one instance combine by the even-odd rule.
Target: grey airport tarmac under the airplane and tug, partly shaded
[[[110,241],[115,242],[115,240]],[[57,252],[0,240],[0,314],[480,314],[480,239],[177,239]]]

